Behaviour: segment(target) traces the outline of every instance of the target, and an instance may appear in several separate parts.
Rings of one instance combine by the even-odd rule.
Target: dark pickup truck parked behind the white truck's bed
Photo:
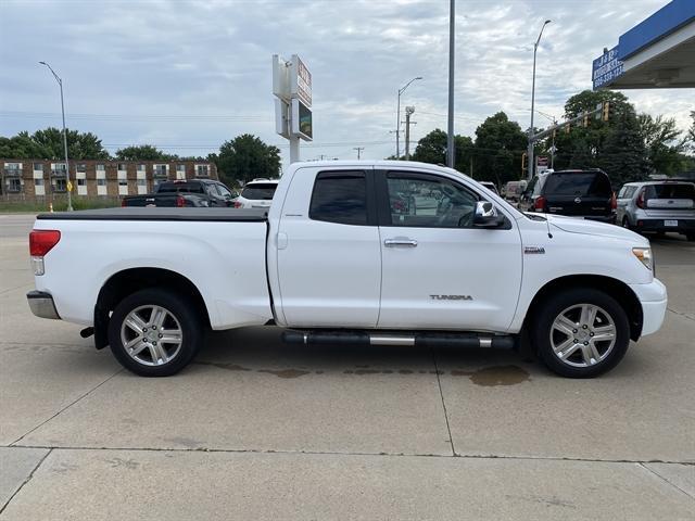
[[[121,206],[231,206],[236,194],[213,179],[162,181],[153,193],[126,195]]]

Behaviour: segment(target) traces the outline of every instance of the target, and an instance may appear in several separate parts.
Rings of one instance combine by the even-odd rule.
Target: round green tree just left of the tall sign
[[[251,134],[242,134],[225,141],[211,161],[228,185],[248,182],[255,177],[275,178],[280,175],[280,150],[264,143]]]

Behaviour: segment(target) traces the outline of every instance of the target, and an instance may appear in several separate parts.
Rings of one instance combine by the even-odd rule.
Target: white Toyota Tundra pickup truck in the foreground
[[[287,342],[532,348],[593,377],[664,320],[649,243],[525,215],[448,168],[298,163],[269,213],[113,208],[39,215],[35,315],[84,325],[142,376],[191,361],[206,329]]]

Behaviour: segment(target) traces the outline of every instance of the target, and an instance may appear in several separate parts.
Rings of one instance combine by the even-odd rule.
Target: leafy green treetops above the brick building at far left
[[[12,138],[1,138],[0,155],[17,160],[62,160],[65,157],[63,131],[49,127],[31,136],[22,131]],[[108,160],[109,152],[93,134],[67,129],[67,156],[70,160]]]

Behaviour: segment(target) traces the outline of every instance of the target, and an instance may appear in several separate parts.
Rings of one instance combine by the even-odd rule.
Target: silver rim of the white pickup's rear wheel
[[[172,312],[155,305],[131,310],[121,325],[121,343],[143,366],[162,366],[178,355],[184,332]]]

